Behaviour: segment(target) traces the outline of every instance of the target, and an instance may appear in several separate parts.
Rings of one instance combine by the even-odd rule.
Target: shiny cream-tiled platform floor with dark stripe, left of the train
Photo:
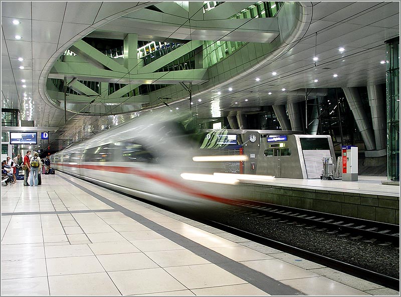
[[[2,186],[2,295],[398,295],[57,172]]]

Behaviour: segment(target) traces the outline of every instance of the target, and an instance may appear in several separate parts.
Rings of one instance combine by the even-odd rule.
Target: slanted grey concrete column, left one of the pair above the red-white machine
[[[372,129],[369,127],[367,116],[363,110],[362,100],[360,99],[357,88],[342,88],[345,97],[347,98],[349,108],[354,115],[356,125],[362,135],[363,142],[365,142],[366,151],[372,151],[376,148]]]

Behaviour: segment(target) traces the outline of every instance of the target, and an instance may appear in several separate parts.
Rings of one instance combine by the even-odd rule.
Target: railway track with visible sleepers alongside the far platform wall
[[[258,201],[233,202],[234,212],[399,249],[399,226]]]

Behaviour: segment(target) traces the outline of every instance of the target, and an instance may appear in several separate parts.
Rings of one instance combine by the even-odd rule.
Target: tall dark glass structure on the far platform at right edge
[[[399,182],[399,37],[386,41],[387,180]]]

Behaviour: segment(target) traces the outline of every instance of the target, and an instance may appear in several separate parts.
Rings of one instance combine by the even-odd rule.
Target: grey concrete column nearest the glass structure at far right
[[[369,97],[370,111],[372,114],[376,150],[383,150],[387,146],[387,127],[385,115],[386,105],[382,86],[367,86],[367,96]]]

